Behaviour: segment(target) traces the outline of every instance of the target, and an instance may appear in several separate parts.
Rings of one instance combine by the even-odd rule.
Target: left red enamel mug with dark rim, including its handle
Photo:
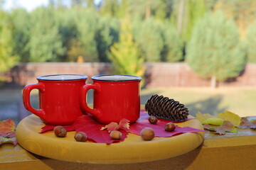
[[[37,77],[38,84],[28,84],[23,89],[23,104],[31,113],[50,125],[70,125],[84,113],[80,108],[80,89],[87,76],[55,74]],[[31,106],[32,89],[39,91],[39,110]]]

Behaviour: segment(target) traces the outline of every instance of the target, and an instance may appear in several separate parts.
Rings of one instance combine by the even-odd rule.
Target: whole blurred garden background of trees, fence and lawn
[[[255,0],[49,0],[29,10],[22,1],[6,3],[0,1],[0,120],[18,123],[30,114],[22,89],[37,76],[68,73],[143,77],[142,104],[161,94],[191,115],[255,115]]]

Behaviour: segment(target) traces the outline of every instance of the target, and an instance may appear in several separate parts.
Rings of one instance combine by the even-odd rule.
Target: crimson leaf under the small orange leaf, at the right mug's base
[[[128,132],[120,130],[120,132],[122,132],[121,140],[112,140],[107,130],[100,130],[104,125],[97,123],[97,121],[89,115],[80,116],[75,121],[74,125],[75,131],[85,132],[87,134],[88,140],[97,143],[106,143],[107,145],[124,141],[128,134]]]

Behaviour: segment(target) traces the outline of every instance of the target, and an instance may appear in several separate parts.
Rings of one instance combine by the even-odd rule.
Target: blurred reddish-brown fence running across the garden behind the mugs
[[[168,86],[210,86],[209,79],[193,73],[186,63],[146,63],[144,75],[147,88]],[[21,63],[4,73],[9,84],[24,86],[36,83],[36,77],[48,74],[111,74],[110,63]],[[91,79],[88,79],[91,83]],[[256,64],[246,64],[240,76],[220,82],[218,86],[256,86]]]

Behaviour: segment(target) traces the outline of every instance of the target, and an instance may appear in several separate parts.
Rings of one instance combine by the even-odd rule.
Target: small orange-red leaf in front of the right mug
[[[129,120],[123,118],[122,120],[120,120],[119,124],[112,122],[112,123],[109,123],[108,125],[105,125],[105,127],[102,127],[100,130],[105,130],[105,129],[107,129],[108,132],[112,132],[113,130],[119,130],[119,129],[129,132]]]

